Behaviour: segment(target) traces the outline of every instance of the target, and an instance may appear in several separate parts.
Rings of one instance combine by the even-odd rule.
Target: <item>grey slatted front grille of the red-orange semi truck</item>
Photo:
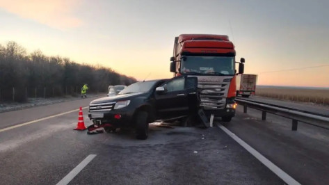
[[[205,110],[225,108],[225,97],[227,95],[230,82],[199,82],[200,106]]]

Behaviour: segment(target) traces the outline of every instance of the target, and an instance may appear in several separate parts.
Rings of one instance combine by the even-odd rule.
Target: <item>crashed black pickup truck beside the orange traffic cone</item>
[[[198,104],[198,79],[180,76],[136,82],[117,96],[95,99],[88,117],[106,132],[134,127],[136,138],[146,139],[149,123],[195,114]]]

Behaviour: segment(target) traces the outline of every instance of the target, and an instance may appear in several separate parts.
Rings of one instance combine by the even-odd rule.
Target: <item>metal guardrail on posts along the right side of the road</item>
[[[243,113],[247,113],[247,107],[255,108],[262,111],[262,120],[266,120],[266,113],[280,115],[284,118],[292,120],[291,130],[296,131],[298,122],[304,122],[323,129],[329,129],[329,117],[317,115],[312,113],[304,113],[298,109],[282,108],[282,106],[275,106],[273,104],[262,104],[259,102],[252,102],[246,99],[235,99],[236,103],[243,105]]]

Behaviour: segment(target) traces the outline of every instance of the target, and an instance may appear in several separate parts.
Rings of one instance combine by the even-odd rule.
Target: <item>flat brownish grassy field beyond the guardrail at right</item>
[[[310,102],[329,105],[329,89],[257,86],[256,95],[292,102]]]

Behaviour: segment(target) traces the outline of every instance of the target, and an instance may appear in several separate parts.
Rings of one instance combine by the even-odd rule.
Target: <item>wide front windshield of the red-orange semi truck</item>
[[[234,56],[182,56],[182,74],[234,75]]]

